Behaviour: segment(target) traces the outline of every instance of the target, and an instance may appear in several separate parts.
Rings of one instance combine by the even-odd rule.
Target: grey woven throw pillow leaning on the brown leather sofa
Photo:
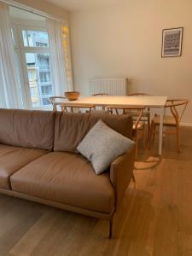
[[[99,120],[79,143],[77,149],[90,160],[98,175],[104,172],[119,155],[129,150],[133,144],[135,143],[129,138]]]

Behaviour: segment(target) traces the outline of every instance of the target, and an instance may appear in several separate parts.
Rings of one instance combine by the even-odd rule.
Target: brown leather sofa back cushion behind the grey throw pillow
[[[132,137],[130,115],[109,113],[57,113],[55,118],[54,151],[78,153],[77,147],[98,120],[125,137]]]

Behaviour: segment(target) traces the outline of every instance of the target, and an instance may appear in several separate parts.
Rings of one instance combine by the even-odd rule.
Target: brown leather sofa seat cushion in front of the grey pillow
[[[53,152],[11,176],[12,189],[69,206],[112,212],[113,186],[108,173],[96,176],[80,154]]]

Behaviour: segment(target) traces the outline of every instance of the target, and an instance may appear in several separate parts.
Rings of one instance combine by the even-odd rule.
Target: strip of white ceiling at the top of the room
[[[44,0],[68,11],[97,9],[120,3],[124,0]]]

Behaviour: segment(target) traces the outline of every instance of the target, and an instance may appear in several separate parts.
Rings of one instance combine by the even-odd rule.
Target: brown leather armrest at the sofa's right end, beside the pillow
[[[115,207],[119,206],[125,191],[133,176],[133,168],[136,154],[134,144],[129,151],[113,161],[110,167],[110,180],[113,184]]]

